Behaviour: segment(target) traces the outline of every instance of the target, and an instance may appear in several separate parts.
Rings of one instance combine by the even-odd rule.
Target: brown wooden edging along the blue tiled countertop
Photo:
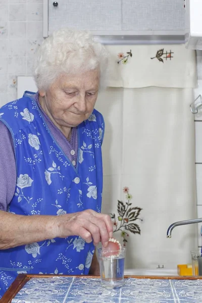
[[[29,281],[31,278],[51,278],[51,277],[76,277],[76,278],[100,278],[100,276],[75,276],[75,275],[28,275],[19,274],[11,286],[7,289],[3,295],[0,303],[11,303],[11,300],[19,292],[19,290]],[[137,279],[170,279],[170,280],[198,280],[202,279],[202,276],[124,276],[124,278],[137,278]]]

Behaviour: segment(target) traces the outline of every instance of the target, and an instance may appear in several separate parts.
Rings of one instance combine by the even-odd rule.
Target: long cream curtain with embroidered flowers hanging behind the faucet
[[[175,52],[182,47],[171,46]],[[136,47],[133,46],[133,53]],[[150,54],[154,51],[154,46],[147,47],[152,49],[144,48],[145,52]],[[121,52],[126,53],[126,49]],[[117,61],[113,55],[114,48],[109,47],[109,51],[111,60]],[[156,82],[162,72],[158,74],[156,65],[156,75],[150,78],[149,87],[108,87],[99,94],[96,103],[96,109],[103,113],[106,123],[102,212],[115,215],[115,229],[123,225],[124,237],[121,231],[115,232],[114,237],[121,242],[124,238],[127,240],[126,268],[156,268],[158,265],[176,268],[177,264],[190,263],[190,250],[196,248],[195,225],[176,227],[172,238],[166,237],[170,224],[197,216],[194,117],[189,109],[193,100],[191,87],[195,85],[195,59],[194,52],[184,48],[181,51],[190,55],[184,62],[184,70],[179,70],[184,78],[189,74],[190,81],[185,81],[185,87],[169,87],[168,80],[165,81],[166,87],[157,87]],[[162,62],[157,63],[163,65]],[[147,67],[142,61],[141,70],[144,68]],[[124,65],[121,66],[120,77],[128,83],[130,73],[123,77],[123,69]],[[172,75],[176,70],[175,66],[169,73]],[[138,73],[137,69],[135,73]],[[125,186],[132,195],[129,200],[127,193],[123,192]],[[128,210],[140,208],[139,214],[138,209],[134,209],[123,216],[124,206],[119,203],[118,209],[118,200],[125,208],[126,202],[131,203]],[[138,215],[137,219],[132,221],[135,215]],[[131,228],[138,230],[131,224],[138,225],[140,234],[130,231]]]

